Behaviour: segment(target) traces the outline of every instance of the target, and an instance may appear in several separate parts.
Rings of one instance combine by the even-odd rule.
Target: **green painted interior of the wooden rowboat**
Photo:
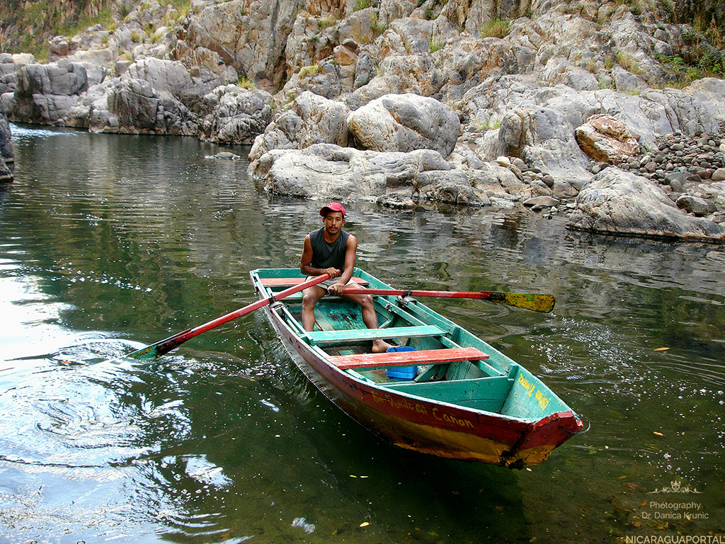
[[[252,274],[260,280],[303,277],[298,270],[286,268],[262,269]],[[369,287],[390,288],[359,268],[355,268],[354,276],[368,281]],[[267,296],[285,288],[283,284],[257,286],[257,289],[266,289]],[[302,293],[285,297],[273,305],[272,310],[280,313],[286,325],[324,357],[369,353],[374,338],[416,350],[476,347],[488,355],[487,359],[481,360],[423,364],[418,366],[413,379],[390,378],[386,368],[345,370],[355,379],[407,395],[518,419],[539,420],[551,413],[569,410],[536,376],[421,302],[392,295],[378,295],[373,300],[378,329],[368,329],[360,306],[344,297],[320,299],[315,305],[315,330],[310,332],[302,329]]]

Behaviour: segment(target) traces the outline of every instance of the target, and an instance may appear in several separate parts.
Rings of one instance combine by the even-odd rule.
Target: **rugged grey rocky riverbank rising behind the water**
[[[668,5],[150,2],[52,37],[49,62],[0,54],[0,105],[18,122],[252,144],[249,172],[278,194],[725,242],[725,81],[671,86],[683,59],[721,66],[725,50]]]

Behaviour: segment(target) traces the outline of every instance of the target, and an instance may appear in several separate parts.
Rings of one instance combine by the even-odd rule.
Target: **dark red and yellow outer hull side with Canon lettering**
[[[400,448],[520,469],[544,461],[581,431],[581,421],[572,411],[537,420],[502,416],[356,379],[300,338],[279,306],[265,312],[310,382],[355,421]]]

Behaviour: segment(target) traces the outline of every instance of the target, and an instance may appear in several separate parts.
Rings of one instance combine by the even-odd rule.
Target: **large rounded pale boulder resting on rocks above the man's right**
[[[358,146],[379,152],[434,149],[447,157],[460,133],[460,120],[450,107],[416,94],[389,94],[373,100],[347,118]]]

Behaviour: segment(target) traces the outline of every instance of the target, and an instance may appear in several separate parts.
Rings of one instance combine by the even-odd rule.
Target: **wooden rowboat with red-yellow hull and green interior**
[[[297,269],[251,272],[260,300],[304,281]],[[391,289],[355,268],[358,283]],[[526,368],[410,297],[373,297],[380,328],[367,329],[344,297],[315,306],[302,329],[302,294],[265,306],[297,366],[333,403],[384,440],[435,456],[521,469],[544,461],[583,425]],[[370,353],[371,340],[400,350]]]

